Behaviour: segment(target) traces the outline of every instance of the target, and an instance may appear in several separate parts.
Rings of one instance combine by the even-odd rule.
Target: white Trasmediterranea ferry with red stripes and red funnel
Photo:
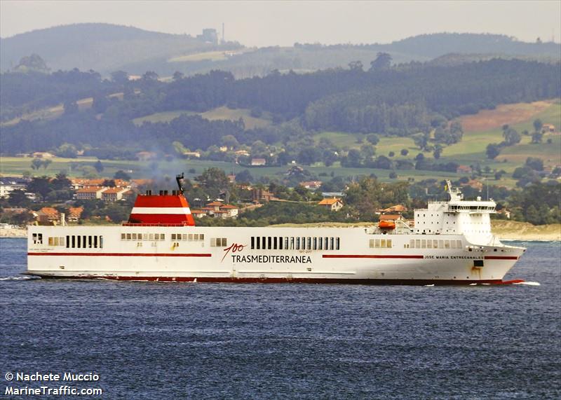
[[[156,282],[501,284],[523,247],[491,230],[492,200],[414,210],[414,223],[369,227],[196,226],[178,190],[137,195],[120,226],[29,226],[27,274]],[[509,281],[512,283],[515,281]]]

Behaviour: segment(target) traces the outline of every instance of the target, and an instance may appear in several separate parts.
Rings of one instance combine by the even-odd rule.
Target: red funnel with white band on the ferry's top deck
[[[138,195],[128,223],[195,226],[189,203],[182,194]]]

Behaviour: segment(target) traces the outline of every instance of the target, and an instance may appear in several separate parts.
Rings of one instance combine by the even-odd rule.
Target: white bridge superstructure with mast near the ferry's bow
[[[450,201],[428,202],[426,209],[415,209],[414,233],[421,235],[466,235],[470,242],[494,241],[489,215],[495,212],[493,200],[464,200],[459,188],[447,181]]]

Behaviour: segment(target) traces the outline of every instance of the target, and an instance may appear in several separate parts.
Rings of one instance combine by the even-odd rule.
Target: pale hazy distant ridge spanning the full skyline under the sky
[[[229,55],[206,57],[212,51],[230,51]],[[243,50],[243,51],[241,51]],[[174,71],[184,74],[205,73],[210,69],[232,71],[236,77],[264,75],[280,71],[313,71],[347,67],[360,60],[370,67],[378,52],[390,53],[393,62],[425,62],[447,54],[471,55],[454,57],[454,62],[469,62],[490,56],[561,60],[559,43],[526,43],[498,34],[421,34],[393,43],[364,45],[296,44],[293,47],[243,48],[237,43],[213,45],[189,35],[150,32],[135,27],[111,24],[76,24],[39,29],[0,39],[0,69],[13,69],[22,57],[36,53],[51,71],[79,68],[93,69],[101,74],[122,69],[130,74],[156,71],[170,76]],[[173,57],[198,54],[196,60],[170,62]]]

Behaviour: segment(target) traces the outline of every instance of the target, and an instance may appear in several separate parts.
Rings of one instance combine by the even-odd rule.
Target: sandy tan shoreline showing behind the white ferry
[[[283,224],[283,226],[299,226],[300,224]],[[306,223],[302,226],[325,226],[329,223]],[[339,224],[337,224],[339,225]],[[356,223],[349,224],[357,226]],[[362,223],[360,223],[362,225]],[[368,224],[371,225],[371,224]],[[505,242],[559,242],[561,241],[561,224],[534,226],[527,222],[518,221],[492,221],[493,232],[499,240]],[[342,226],[341,226],[342,227]],[[0,228],[0,237],[27,237],[26,228]]]

